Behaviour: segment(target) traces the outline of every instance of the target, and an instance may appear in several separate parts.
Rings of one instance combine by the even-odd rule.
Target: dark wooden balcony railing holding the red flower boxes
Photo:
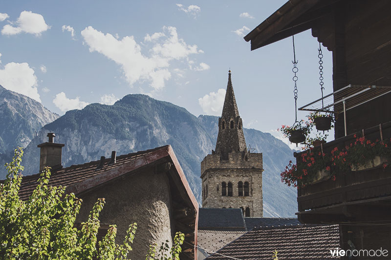
[[[333,140],[324,144],[323,147],[317,147],[315,151],[323,149],[323,152],[330,153],[336,147],[342,151],[346,146],[354,143],[357,136],[361,137],[363,134],[366,139],[371,141],[377,139],[390,141],[391,122]],[[305,163],[301,161],[303,153],[295,153],[298,167]],[[360,201],[391,200],[391,166],[384,168],[382,164],[354,171],[338,171],[337,169],[333,174],[335,174],[335,180],[329,178],[298,187],[299,215],[300,213],[309,213],[305,211],[318,213],[324,211],[326,214],[326,209],[334,209],[335,213],[335,208],[338,206],[360,203]]]

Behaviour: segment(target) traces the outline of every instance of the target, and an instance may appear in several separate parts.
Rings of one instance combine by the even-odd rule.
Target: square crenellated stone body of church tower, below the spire
[[[220,160],[218,154],[209,154],[201,162],[202,206],[204,208],[250,209],[250,217],[262,217],[262,153],[249,153],[246,161],[241,152],[229,154],[229,160]],[[249,183],[249,196],[239,196],[239,181]],[[222,182],[232,183],[232,196],[222,195]],[[244,188],[244,185],[243,185]],[[228,192],[228,189],[227,189]]]

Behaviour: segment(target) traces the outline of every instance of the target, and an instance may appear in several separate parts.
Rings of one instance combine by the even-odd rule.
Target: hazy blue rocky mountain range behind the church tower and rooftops
[[[68,111],[58,118],[40,103],[4,90],[0,88],[0,118],[1,125],[7,125],[7,128],[0,129],[0,138],[2,143],[7,144],[4,147],[8,150],[12,147],[11,151],[31,140],[22,161],[24,175],[38,173],[40,151],[37,145],[47,141],[48,132],[56,133],[55,142],[65,144],[65,167],[98,160],[100,156],[109,157],[111,151],[125,154],[171,144],[200,202],[200,162],[215,149],[218,117],[195,117],[185,108],[136,94],[127,95],[112,106],[91,104],[82,110]],[[2,101],[3,96],[7,97],[4,98],[7,101]],[[29,101],[18,103],[22,98]],[[19,105],[10,108],[9,104]],[[10,114],[14,116],[6,117]],[[4,124],[6,122],[10,123]],[[34,137],[35,131],[38,135]],[[27,137],[22,139],[24,136]],[[244,129],[244,136],[247,145],[263,153],[264,217],[293,217],[297,210],[296,190],[280,180],[281,170],[293,159],[292,150],[270,133]],[[5,159],[9,160],[9,156],[0,158],[0,162],[4,164]],[[0,177],[5,177],[5,168],[1,168]]]

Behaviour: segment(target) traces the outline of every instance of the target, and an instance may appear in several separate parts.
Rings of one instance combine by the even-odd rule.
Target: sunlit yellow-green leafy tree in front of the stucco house
[[[49,186],[50,169],[46,168],[38,185],[28,200],[19,197],[22,182],[23,151],[15,150],[4,183],[0,184],[0,258],[9,260],[122,260],[133,243],[137,224],[129,226],[124,242],[115,243],[116,226],[111,225],[106,236],[97,245],[96,235],[100,227],[99,213],[105,205],[100,198],[93,206],[86,222],[77,229],[74,224],[82,199],[65,194],[65,186]],[[176,233],[174,246],[168,241],[155,254],[150,247],[147,260],[179,260],[182,233]],[[152,253],[153,252],[153,253]],[[151,254],[152,253],[152,254]]]

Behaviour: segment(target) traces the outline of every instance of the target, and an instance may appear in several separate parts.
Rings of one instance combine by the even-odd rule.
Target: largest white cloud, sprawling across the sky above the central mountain
[[[99,52],[121,65],[130,86],[138,81],[149,81],[154,90],[163,88],[165,81],[171,78],[168,70],[171,61],[186,60],[189,55],[200,53],[197,45],[188,45],[178,38],[176,28],[171,26],[164,26],[162,33],[150,36],[152,40],[153,35],[159,35],[153,37],[159,41],[153,43],[149,56],[142,53],[141,46],[133,36],[117,40],[113,35],[104,34],[92,26],[86,27],[81,34],[90,52]]]

